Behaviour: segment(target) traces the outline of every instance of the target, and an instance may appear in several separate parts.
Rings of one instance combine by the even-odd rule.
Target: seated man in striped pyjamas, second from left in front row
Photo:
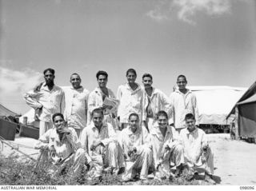
[[[92,111],[92,122],[82,130],[82,147],[89,153],[96,171],[92,176],[101,177],[102,169],[110,167],[114,173],[124,167],[122,149],[118,144],[117,135],[110,123],[103,123],[103,110]],[[123,169],[123,168],[122,168]]]

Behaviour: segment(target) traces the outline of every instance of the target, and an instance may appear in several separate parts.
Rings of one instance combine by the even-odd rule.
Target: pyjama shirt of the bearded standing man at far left
[[[63,113],[65,109],[65,95],[64,91],[58,87],[53,87],[49,90],[44,82],[39,91],[31,90],[24,95],[26,103],[34,109],[42,107],[38,118],[40,121],[51,121],[51,116],[54,113]]]

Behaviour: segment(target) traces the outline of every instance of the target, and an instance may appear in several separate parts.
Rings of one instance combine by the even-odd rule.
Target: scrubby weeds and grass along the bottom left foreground
[[[106,173],[102,180],[87,181],[86,170],[82,171],[80,178],[75,178],[73,173],[67,171],[64,175],[50,176],[47,169],[49,164],[43,163],[35,169],[36,162],[20,160],[14,153],[4,157],[0,153],[0,185],[209,185],[204,181],[186,181],[184,177],[174,178],[173,181],[150,180],[146,183],[141,181],[120,181],[121,176]]]

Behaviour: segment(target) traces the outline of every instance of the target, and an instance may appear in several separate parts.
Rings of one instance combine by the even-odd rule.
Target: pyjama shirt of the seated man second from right
[[[154,127],[150,131],[150,144],[152,145],[153,149],[155,167],[157,167],[162,161],[162,156],[165,153],[166,145],[172,149],[174,145],[181,144],[178,133],[174,127],[167,125],[166,128],[165,137],[163,137],[158,124],[154,124]]]

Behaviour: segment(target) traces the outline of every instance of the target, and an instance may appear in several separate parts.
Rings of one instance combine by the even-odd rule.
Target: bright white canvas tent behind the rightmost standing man
[[[188,89],[197,97],[199,123],[206,125],[230,125],[226,117],[246,91],[231,86],[188,86]]]

